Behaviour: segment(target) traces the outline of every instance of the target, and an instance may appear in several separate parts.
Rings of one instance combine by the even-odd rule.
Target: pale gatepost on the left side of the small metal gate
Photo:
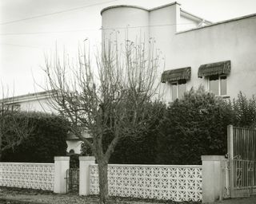
[[[69,168],[69,156],[54,157],[54,193],[66,194],[66,171]]]

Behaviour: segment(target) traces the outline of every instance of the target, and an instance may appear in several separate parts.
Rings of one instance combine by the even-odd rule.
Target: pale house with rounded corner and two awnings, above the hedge
[[[105,41],[154,39],[165,57],[165,70],[159,70],[158,77],[166,102],[200,84],[230,99],[239,91],[256,94],[256,14],[211,23],[177,2],[152,10],[110,6],[101,14]]]

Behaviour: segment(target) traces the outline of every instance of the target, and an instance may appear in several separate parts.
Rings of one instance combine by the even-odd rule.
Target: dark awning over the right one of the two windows
[[[219,61],[206,65],[201,65],[198,69],[198,77],[207,77],[217,74],[229,74],[231,70],[230,61]]]

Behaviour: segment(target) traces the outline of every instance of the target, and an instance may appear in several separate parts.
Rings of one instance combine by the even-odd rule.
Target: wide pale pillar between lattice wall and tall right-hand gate
[[[222,200],[223,196],[223,163],[225,157],[220,155],[202,156],[202,203]]]

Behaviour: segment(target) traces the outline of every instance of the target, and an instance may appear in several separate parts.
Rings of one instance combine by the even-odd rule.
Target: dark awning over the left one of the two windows
[[[190,80],[191,68],[185,67],[180,69],[170,69],[162,73],[161,82],[166,83],[166,81],[174,80]]]

